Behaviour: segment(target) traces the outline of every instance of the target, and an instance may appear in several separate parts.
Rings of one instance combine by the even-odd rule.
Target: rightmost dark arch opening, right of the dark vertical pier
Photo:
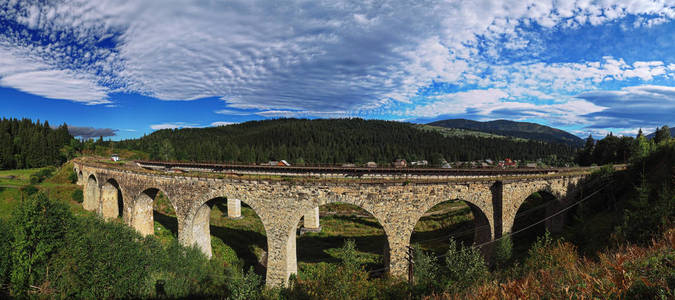
[[[527,253],[532,243],[537,237],[543,235],[547,230],[547,222],[544,220],[551,210],[558,204],[558,199],[548,191],[539,190],[528,196],[518,207],[511,232],[518,232],[511,236],[513,242],[513,253]],[[536,224],[539,222],[538,224]],[[519,232],[523,229],[526,230]]]

